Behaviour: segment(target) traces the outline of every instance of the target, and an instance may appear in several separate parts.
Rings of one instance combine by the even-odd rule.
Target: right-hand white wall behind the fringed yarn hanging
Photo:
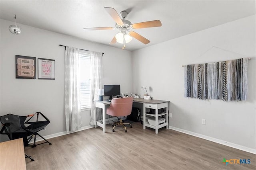
[[[170,101],[172,127],[256,149],[255,38],[255,16],[249,16],[134,51],[133,92],[143,95],[140,87],[150,86],[154,99]],[[246,102],[184,98],[182,65],[244,57],[236,53],[252,57]],[[202,118],[206,125],[201,124]]]

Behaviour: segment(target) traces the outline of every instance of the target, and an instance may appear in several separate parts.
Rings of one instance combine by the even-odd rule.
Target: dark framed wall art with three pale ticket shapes
[[[16,78],[36,79],[36,57],[15,55]]]

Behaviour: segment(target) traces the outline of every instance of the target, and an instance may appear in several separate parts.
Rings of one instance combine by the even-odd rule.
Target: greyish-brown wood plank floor
[[[158,134],[138,122],[127,133],[107,125],[49,139],[52,145],[26,147],[27,170],[255,170],[256,155],[161,128]],[[250,164],[223,164],[223,158]]]

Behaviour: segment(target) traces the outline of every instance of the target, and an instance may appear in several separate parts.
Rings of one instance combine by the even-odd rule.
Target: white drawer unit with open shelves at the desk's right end
[[[144,118],[143,119],[143,129],[146,129],[146,127],[150,127],[152,129],[156,130],[156,134],[158,134],[158,129],[160,129],[162,127],[166,126],[166,129],[168,129],[168,126],[169,126],[169,115],[168,115],[169,102],[156,103],[156,104],[146,103],[144,108],[145,109],[143,111],[143,118]],[[146,108],[155,109],[155,114],[146,113]],[[158,114],[158,109],[163,109],[163,108],[166,108],[167,113],[159,113]],[[166,115],[166,122],[158,125],[158,117],[163,116],[163,115]],[[155,126],[150,125],[147,122],[147,118],[152,118],[152,117],[155,118],[155,122],[156,122]]]

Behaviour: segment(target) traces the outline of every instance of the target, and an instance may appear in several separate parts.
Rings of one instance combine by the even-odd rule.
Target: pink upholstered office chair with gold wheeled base
[[[130,123],[123,123],[122,116],[130,115],[132,112],[132,99],[133,98],[114,98],[111,100],[110,106],[107,108],[107,114],[111,116],[120,116],[120,121],[112,124],[113,132],[115,131],[115,127],[118,125],[123,125],[124,131],[127,132],[125,125],[132,125]],[[114,125],[117,124],[117,125]]]

